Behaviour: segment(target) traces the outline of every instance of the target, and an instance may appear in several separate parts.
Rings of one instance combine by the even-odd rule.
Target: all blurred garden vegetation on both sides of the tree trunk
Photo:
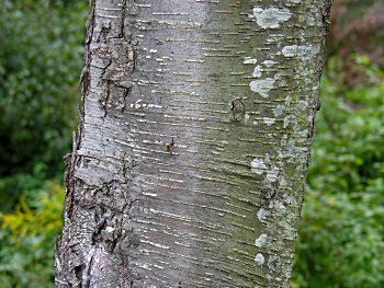
[[[0,0],[0,284],[54,287],[88,1]],[[294,288],[384,287],[384,11],[337,0]],[[361,45],[364,43],[364,45]]]

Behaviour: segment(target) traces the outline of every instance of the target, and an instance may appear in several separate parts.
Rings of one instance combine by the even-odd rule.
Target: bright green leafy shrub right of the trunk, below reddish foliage
[[[384,287],[384,76],[357,60],[376,84],[323,81],[292,287]]]

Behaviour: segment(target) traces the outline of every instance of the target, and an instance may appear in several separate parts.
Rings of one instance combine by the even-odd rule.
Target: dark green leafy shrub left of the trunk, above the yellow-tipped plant
[[[55,175],[77,119],[86,1],[1,1],[0,176]]]

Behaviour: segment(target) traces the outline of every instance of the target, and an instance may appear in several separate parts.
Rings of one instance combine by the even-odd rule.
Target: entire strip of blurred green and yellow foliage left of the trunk
[[[88,1],[0,0],[0,287],[54,287]]]

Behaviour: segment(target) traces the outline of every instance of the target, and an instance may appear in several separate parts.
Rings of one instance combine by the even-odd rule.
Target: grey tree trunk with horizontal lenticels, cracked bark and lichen
[[[91,0],[57,287],[289,287],[328,0]]]

